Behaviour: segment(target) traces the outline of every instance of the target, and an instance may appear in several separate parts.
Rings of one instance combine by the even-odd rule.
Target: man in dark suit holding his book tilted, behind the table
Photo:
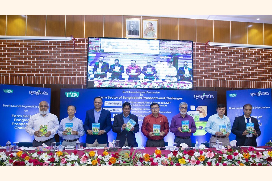
[[[132,146],[138,147],[136,142],[135,133],[139,131],[138,117],[130,113],[131,105],[128,102],[123,103],[122,105],[123,112],[114,116],[112,131],[117,133],[116,140],[120,140],[120,147],[123,146]],[[127,122],[133,119],[136,122],[136,125],[131,128],[130,131],[126,130]]]

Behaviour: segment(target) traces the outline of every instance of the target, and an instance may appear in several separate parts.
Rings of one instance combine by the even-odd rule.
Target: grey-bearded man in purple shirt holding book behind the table
[[[170,125],[170,132],[176,136],[174,142],[177,146],[181,143],[185,143],[188,146],[192,146],[191,135],[196,132],[196,124],[192,116],[187,114],[188,104],[182,102],[179,105],[180,113],[172,118]]]

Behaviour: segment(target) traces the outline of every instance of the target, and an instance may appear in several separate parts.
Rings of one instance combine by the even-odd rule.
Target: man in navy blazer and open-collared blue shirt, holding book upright
[[[108,143],[108,132],[112,129],[111,113],[102,108],[102,98],[94,99],[95,108],[86,111],[83,128],[86,132],[86,146],[105,147]],[[98,135],[92,132],[92,123],[100,123]]]

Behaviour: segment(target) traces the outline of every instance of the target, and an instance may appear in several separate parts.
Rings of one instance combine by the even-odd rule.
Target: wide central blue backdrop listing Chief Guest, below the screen
[[[139,146],[145,146],[147,138],[141,132],[142,122],[145,116],[151,114],[150,104],[157,102],[160,105],[160,113],[167,116],[169,126],[173,116],[179,113],[179,103],[188,104],[188,113],[197,120],[196,126],[199,128],[192,137],[192,142],[199,143],[209,141],[210,135],[206,134],[204,127],[212,114],[216,113],[217,93],[216,91],[188,91],[188,90],[135,90],[135,89],[61,89],[60,92],[60,119],[68,116],[67,106],[76,106],[76,117],[84,123],[86,111],[94,107],[95,97],[103,98],[104,109],[111,112],[112,122],[116,114],[122,112],[122,103],[131,103],[131,113],[138,116],[140,131],[136,133]],[[206,116],[199,118],[198,106],[204,107]],[[192,111],[192,112],[189,112]],[[116,138],[116,133],[108,133],[108,141]],[[86,135],[80,138],[85,142]],[[169,134],[164,139],[171,145],[174,134]]]

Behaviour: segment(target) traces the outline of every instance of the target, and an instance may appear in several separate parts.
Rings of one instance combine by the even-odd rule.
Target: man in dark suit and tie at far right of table
[[[252,105],[245,104],[243,106],[243,116],[236,117],[232,126],[232,133],[236,135],[235,140],[237,146],[257,146],[256,138],[261,135],[258,120],[251,117]],[[246,123],[253,122],[254,130],[253,133],[249,133]]]

